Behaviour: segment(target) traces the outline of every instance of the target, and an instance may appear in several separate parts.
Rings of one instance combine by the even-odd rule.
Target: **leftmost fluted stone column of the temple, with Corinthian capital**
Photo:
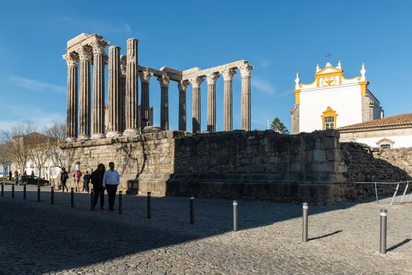
[[[67,142],[78,137],[78,67],[79,57],[75,52],[63,56],[67,62]]]

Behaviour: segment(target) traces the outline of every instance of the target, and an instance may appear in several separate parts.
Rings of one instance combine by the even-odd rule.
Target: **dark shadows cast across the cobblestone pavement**
[[[233,229],[233,206],[228,200],[196,199],[196,224],[190,225],[190,203],[185,197],[152,197],[152,219],[147,219],[147,199],[141,196],[124,195],[123,214],[118,214],[117,210],[89,211],[87,194],[76,194],[75,208],[70,207],[67,193],[56,192],[53,206],[49,202],[49,192],[42,193],[41,203],[35,202],[36,192],[27,192],[27,201],[23,201],[21,191],[16,191],[15,197],[11,199],[11,192],[6,191],[5,197],[0,198],[3,235],[0,268],[4,274],[68,270],[225,234]],[[310,215],[320,214],[354,204],[311,206],[309,212]],[[299,218],[301,214],[300,205],[239,201],[238,228],[258,228]],[[339,232],[341,230],[310,240]],[[408,241],[410,239],[403,244]]]

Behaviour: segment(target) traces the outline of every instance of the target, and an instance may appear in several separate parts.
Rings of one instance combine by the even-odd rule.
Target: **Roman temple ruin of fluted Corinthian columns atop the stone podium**
[[[97,140],[105,137],[131,136],[139,128],[152,126],[149,82],[159,81],[161,92],[160,128],[169,130],[170,81],[179,89],[179,131],[186,131],[186,91],[192,85],[192,132],[201,132],[201,86],[207,80],[207,131],[216,131],[216,80],[224,80],[224,131],[233,130],[232,80],[236,70],[242,77],[241,129],[251,129],[251,71],[248,61],[201,69],[179,71],[169,67],[153,69],[139,65],[137,39],[128,39],[126,55],[98,34],[80,34],[67,42],[67,142]],[[106,54],[108,47],[108,54]],[[78,67],[80,61],[80,85]],[[108,122],[105,122],[105,76],[108,65]],[[93,86],[91,67],[93,66]],[[141,84],[139,104],[138,78]],[[80,86],[80,102],[78,86]],[[93,88],[92,88],[93,87]],[[93,89],[93,93],[91,91]],[[93,94],[93,98],[92,98]],[[92,101],[93,100],[93,101]],[[91,102],[93,102],[93,107]],[[80,112],[79,112],[80,105]],[[78,113],[80,118],[78,118]],[[105,127],[107,124],[107,129]]]

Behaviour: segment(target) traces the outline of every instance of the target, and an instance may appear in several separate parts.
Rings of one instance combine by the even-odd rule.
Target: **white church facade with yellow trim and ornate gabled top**
[[[341,61],[336,67],[329,62],[316,67],[314,81],[302,84],[299,74],[295,79],[295,106],[291,133],[337,129],[341,126],[368,122],[384,117],[379,100],[368,89],[365,64],[361,76],[345,78]]]

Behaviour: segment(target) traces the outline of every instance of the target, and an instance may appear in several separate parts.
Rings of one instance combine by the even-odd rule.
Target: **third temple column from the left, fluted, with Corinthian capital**
[[[104,49],[108,43],[93,41],[93,134],[91,139],[106,137],[104,129],[104,66],[107,55]]]

